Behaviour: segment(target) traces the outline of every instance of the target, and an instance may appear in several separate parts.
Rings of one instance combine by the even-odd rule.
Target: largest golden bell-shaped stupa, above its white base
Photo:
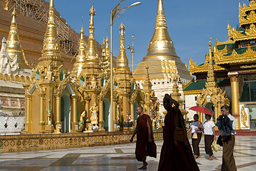
[[[192,79],[185,64],[178,57],[171,37],[169,37],[165,20],[164,0],[158,0],[155,32],[149,43],[148,53],[133,73],[136,80],[145,79],[146,66],[149,66],[151,79],[172,78],[171,73],[176,67],[184,83]]]

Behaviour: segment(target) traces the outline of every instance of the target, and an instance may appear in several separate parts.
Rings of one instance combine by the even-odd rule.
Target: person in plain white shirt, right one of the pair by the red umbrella
[[[213,160],[212,143],[216,140],[215,123],[211,120],[211,115],[206,114],[205,118],[206,121],[201,125],[204,131],[204,150],[210,156],[208,160]]]

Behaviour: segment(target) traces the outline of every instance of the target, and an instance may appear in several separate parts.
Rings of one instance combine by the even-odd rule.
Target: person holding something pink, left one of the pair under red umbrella
[[[199,150],[199,143],[201,141],[201,128],[202,123],[199,121],[199,115],[198,114],[194,114],[194,121],[191,122],[190,128],[187,130],[187,133],[189,133],[190,131],[192,131],[192,147],[193,147],[193,151],[194,151],[194,158],[200,158],[200,150]],[[197,134],[196,138],[193,138],[194,134]]]

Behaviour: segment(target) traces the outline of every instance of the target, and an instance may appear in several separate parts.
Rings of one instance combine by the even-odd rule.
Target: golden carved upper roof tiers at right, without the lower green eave
[[[213,64],[215,72],[225,72],[230,64],[248,64],[256,62],[256,2],[251,1],[249,5],[239,2],[239,24],[240,27],[231,28],[228,23],[228,40],[220,42],[216,40],[213,50]],[[209,63],[209,54],[206,61],[197,65],[190,60],[191,74],[206,73]],[[243,67],[243,66],[242,66]],[[245,65],[244,68],[247,66]]]

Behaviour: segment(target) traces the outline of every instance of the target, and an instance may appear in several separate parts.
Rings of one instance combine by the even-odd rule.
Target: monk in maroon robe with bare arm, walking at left
[[[143,166],[139,169],[146,169],[148,165],[146,156],[156,158],[156,144],[153,139],[151,118],[149,115],[143,114],[143,108],[140,106],[136,108],[136,113],[139,117],[137,118],[137,126],[130,142],[132,143],[133,137],[137,134],[135,156],[139,162],[143,162]]]

